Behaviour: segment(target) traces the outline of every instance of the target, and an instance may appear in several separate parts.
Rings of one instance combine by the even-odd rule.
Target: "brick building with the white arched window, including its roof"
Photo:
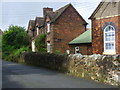
[[[89,19],[92,20],[93,54],[120,54],[120,1],[104,0]]]

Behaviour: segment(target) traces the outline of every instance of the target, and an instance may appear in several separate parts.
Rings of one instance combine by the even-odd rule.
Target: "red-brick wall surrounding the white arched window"
[[[112,22],[118,28],[116,34],[116,54],[120,54],[120,16],[92,19],[92,51],[93,54],[103,54],[104,41],[103,41],[103,27],[106,22]]]

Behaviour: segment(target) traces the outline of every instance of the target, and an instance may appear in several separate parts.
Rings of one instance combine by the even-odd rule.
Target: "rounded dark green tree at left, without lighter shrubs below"
[[[21,26],[9,26],[8,30],[3,33],[3,44],[11,45],[15,48],[28,45],[27,32]]]

